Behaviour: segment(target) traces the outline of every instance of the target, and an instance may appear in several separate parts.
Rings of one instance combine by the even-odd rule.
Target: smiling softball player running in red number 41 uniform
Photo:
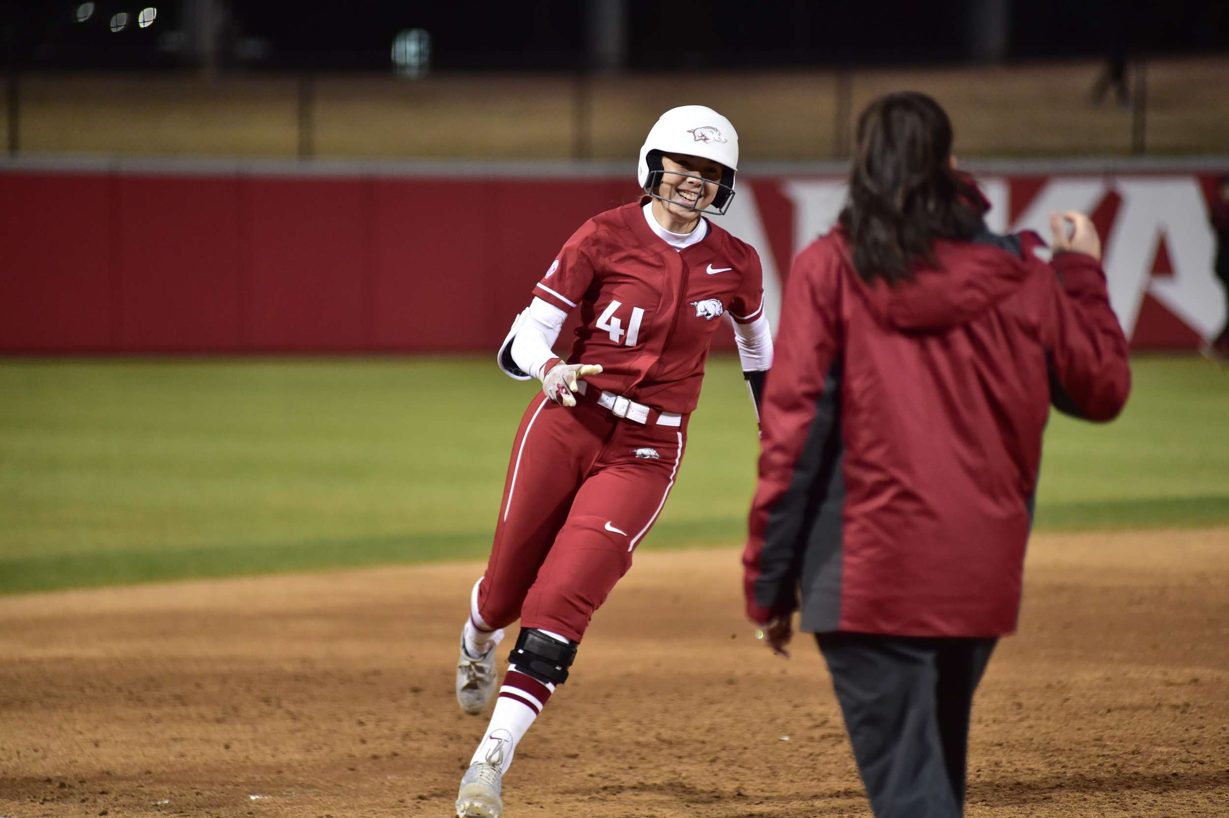
[[[457,816],[498,818],[503,774],[678,477],[718,319],[734,322],[752,399],[772,364],[755,249],[701,214],[734,198],[739,138],[702,106],[667,111],[640,149],[645,195],[590,219],[533,287],[499,367],[542,381],[512,443],[495,539],[473,586],[456,691],[495,695],[495,645],[521,630]],[[570,360],[552,345],[580,311]]]

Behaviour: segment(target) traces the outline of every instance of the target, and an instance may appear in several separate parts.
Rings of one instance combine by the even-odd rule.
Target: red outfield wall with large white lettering
[[[571,231],[637,195],[526,176],[2,169],[0,353],[493,351]],[[980,178],[998,230],[1095,212],[1137,348],[1219,329],[1211,173]],[[740,179],[720,224],[761,251],[769,302],[842,195],[831,176]]]

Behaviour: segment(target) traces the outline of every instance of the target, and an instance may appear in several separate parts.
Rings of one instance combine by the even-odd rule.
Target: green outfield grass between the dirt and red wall
[[[1229,373],[1133,370],[1118,421],[1051,420],[1040,529],[1229,522]],[[483,558],[533,391],[488,356],[0,361],[0,593]],[[643,547],[741,542],[755,457],[715,359]]]

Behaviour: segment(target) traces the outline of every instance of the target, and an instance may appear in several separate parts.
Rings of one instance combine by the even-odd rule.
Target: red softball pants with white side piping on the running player
[[[478,587],[482,619],[520,619],[579,642],[661,513],[686,441],[686,416],[681,426],[642,425],[596,403],[531,400]]]

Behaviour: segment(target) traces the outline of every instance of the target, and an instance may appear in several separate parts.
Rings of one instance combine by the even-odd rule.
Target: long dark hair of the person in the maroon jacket
[[[950,157],[951,120],[924,93],[889,93],[858,117],[841,226],[864,281],[911,279],[914,260],[934,263],[935,238],[968,240],[981,231],[984,199]]]

